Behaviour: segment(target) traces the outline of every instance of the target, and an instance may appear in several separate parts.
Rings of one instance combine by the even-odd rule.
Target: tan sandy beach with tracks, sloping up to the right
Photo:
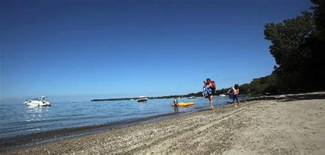
[[[325,92],[265,96],[1,154],[325,154],[324,110]]]

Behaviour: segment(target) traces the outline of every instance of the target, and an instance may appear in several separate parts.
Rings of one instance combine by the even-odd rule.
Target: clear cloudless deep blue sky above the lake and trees
[[[308,0],[0,1],[0,98],[188,94],[275,65],[265,23]]]

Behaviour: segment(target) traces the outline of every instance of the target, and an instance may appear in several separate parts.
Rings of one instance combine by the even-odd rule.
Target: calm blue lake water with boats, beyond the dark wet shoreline
[[[51,102],[52,107],[27,107],[21,101],[0,102],[0,137],[12,137],[47,130],[75,128],[120,122],[128,119],[151,117],[174,113],[172,99],[136,100],[103,102]],[[226,104],[227,97],[215,98],[215,104]],[[195,102],[195,106],[179,108],[179,112],[208,109],[206,98],[186,99],[179,102]]]

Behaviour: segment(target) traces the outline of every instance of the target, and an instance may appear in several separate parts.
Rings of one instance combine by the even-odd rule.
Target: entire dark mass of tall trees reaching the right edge
[[[314,12],[302,12],[301,16],[284,20],[283,23],[267,23],[265,39],[272,42],[270,53],[274,56],[277,91],[301,91],[324,89],[325,70],[324,40],[320,35],[324,27],[324,3],[314,0],[317,7]],[[320,5],[322,4],[322,5]],[[322,36],[322,37],[321,37]],[[263,79],[256,83],[261,89],[267,86]],[[254,84],[254,81],[252,82]],[[264,84],[263,84],[264,83]],[[254,84],[256,85],[256,84]],[[257,90],[260,91],[260,90]]]

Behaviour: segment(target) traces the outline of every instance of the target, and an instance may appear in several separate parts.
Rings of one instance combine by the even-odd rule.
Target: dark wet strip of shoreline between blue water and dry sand
[[[243,98],[241,102],[247,102],[247,100],[254,100],[255,98],[256,96],[251,97],[249,99]],[[219,108],[219,107],[227,106],[228,104],[232,104],[232,103],[226,102],[226,104],[215,105],[215,107]],[[206,109],[201,107],[193,111],[164,113],[160,115],[154,115],[151,117],[126,119],[121,122],[110,122],[105,124],[98,124],[92,126],[80,126],[74,128],[61,128],[57,130],[36,132],[36,133],[26,134],[26,135],[16,135],[12,137],[0,137],[0,152],[21,149],[23,147],[32,147],[33,145],[40,145],[43,143],[62,141],[64,139],[69,139],[73,137],[82,137],[86,135],[95,134],[98,132],[115,130],[118,128],[127,128],[129,126],[135,126],[137,124],[146,124],[146,123],[156,122],[163,119],[178,117],[180,115],[188,115],[190,113],[197,113],[200,111],[208,111],[208,110],[209,110],[208,107],[206,107]]]

